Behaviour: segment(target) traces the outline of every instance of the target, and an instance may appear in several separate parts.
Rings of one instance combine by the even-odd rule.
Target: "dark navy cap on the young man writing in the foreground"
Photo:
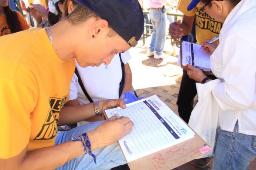
[[[74,0],[107,20],[130,46],[135,47],[144,31],[144,14],[138,0]]]

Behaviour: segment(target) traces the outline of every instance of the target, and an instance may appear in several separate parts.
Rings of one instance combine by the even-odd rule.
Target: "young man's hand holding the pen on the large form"
[[[115,116],[106,119],[93,131],[88,132],[92,150],[111,145],[132,130],[134,123],[128,117]]]

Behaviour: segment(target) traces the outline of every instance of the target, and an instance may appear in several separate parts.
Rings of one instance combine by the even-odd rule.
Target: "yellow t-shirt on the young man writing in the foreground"
[[[60,60],[45,29],[5,35],[0,42],[0,158],[10,158],[27,145],[54,145],[75,61]]]

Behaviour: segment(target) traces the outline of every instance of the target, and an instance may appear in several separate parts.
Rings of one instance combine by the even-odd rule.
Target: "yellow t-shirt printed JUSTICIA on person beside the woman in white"
[[[197,10],[201,8],[200,4],[191,11],[187,10],[190,0],[179,0],[178,10],[180,10],[185,16],[196,15],[196,40],[198,44],[202,44],[205,39],[212,39],[220,34],[222,23],[214,20],[208,14],[204,13],[200,15]]]

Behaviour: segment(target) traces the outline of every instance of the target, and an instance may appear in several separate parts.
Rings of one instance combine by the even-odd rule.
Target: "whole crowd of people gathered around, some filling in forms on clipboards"
[[[120,99],[132,90],[129,49],[140,40],[145,20],[153,25],[146,54],[166,57],[165,9],[172,1],[147,0],[149,18],[141,0],[49,0],[47,8],[22,2],[27,19],[9,0],[0,0],[0,170],[125,165],[116,141],[133,122],[107,118],[104,109],[126,107]],[[246,170],[256,158],[256,2],[179,0],[177,9],[184,15],[170,21],[170,36],[184,39],[194,27],[193,41],[210,53],[213,73],[186,65],[178,113],[189,123],[197,88],[205,89],[219,107],[211,113],[220,127],[212,169]],[[216,36],[219,41],[209,44]],[[70,129],[58,130],[66,125]],[[210,162],[200,158],[197,166]]]

